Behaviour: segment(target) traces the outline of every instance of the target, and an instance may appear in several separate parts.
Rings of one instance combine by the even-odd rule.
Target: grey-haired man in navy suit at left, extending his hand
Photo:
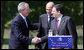
[[[37,29],[29,23],[27,18],[29,14],[28,3],[21,2],[18,5],[19,14],[11,23],[11,33],[9,40],[9,49],[28,49],[31,43],[38,43],[38,38],[29,38],[29,30]]]

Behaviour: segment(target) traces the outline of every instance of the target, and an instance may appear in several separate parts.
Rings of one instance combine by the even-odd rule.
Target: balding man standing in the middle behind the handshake
[[[48,37],[46,35],[48,34],[48,30],[50,29],[50,23],[54,19],[54,17],[51,14],[52,7],[54,3],[53,2],[48,2],[46,4],[46,12],[47,14],[42,14],[39,17],[39,33],[37,34],[37,37],[41,38],[41,43],[36,44],[36,47],[40,49],[48,49]],[[45,36],[45,37],[44,37]]]

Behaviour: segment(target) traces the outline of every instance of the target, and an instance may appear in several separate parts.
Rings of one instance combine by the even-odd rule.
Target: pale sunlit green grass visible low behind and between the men
[[[80,33],[79,29],[78,32]],[[30,35],[29,37],[35,37],[37,34],[37,31],[30,31]],[[82,30],[82,34],[83,34],[83,30]],[[83,35],[81,33],[78,34],[78,49],[83,49]],[[4,32],[4,41],[3,41],[3,45],[2,45],[2,49],[8,49],[9,48],[9,38],[10,38],[10,29],[5,29]],[[31,44],[29,45],[29,49],[34,49],[35,45]]]

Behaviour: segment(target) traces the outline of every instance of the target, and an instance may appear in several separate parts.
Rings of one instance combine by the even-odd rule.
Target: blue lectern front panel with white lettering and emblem
[[[48,37],[48,48],[72,48],[72,36]]]

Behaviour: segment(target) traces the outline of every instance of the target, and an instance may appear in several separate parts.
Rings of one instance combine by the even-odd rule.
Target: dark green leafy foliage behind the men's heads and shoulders
[[[5,1],[5,28],[9,28],[12,19],[18,14],[17,6],[22,1]],[[32,23],[39,22],[39,16],[46,13],[45,6],[49,1],[24,1],[30,6],[29,20]],[[83,1],[53,1],[55,4],[63,4],[65,14],[72,17],[76,26],[83,25]]]

